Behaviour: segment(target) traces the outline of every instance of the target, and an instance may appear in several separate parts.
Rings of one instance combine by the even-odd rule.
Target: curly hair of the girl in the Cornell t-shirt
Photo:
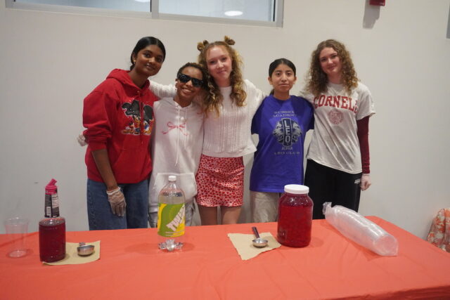
[[[326,41],[321,41],[317,45],[316,50],[311,53],[311,65],[309,67],[308,79],[307,79],[307,90],[314,94],[314,96],[319,96],[320,93],[326,92],[328,84],[328,77],[323,72],[320,63],[320,54],[323,48],[333,48],[340,58],[342,63],[342,84],[345,86],[345,90],[351,93],[352,89],[356,88],[358,85],[358,77],[356,77],[356,71],[353,67],[352,58],[350,58],[350,53],[345,48],[344,44],[336,41],[334,39],[327,39]]]

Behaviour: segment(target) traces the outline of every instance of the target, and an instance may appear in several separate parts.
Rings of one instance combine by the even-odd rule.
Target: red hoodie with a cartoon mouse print
[[[152,169],[148,143],[153,128],[156,96],[146,81],[139,89],[128,71],[115,69],[84,98],[84,136],[89,141],[87,176],[103,182],[92,151],[107,149],[117,183],[139,183]]]

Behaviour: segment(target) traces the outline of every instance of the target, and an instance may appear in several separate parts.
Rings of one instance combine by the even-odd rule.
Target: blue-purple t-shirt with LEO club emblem
[[[259,136],[250,190],[283,193],[286,184],[303,184],[304,136],[314,129],[314,110],[304,98],[266,97],[252,120]]]

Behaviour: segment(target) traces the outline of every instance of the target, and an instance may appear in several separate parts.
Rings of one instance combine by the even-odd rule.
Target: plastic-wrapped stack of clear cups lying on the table
[[[397,256],[397,239],[356,211],[325,202],[323,214],[328,223],[357,244],[382,256]]]

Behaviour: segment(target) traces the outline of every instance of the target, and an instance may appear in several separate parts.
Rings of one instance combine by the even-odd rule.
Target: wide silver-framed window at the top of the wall
[[[6,7],[281,27],[283,0],[6,0]]]

